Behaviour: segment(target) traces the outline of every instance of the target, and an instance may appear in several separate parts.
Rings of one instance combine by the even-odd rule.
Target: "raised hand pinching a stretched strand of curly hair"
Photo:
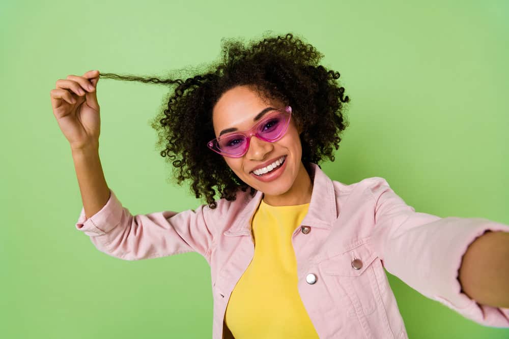
[[[56,80],[50,90],[53,114],[72,149],[99,145],[101,120],[97,102],[99,71]]]

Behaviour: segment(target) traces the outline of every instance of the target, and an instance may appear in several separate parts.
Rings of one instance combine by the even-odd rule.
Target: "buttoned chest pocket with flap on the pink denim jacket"
[[[369,245],[362,244],[319,263],[330,293],[350,317],[366,316],[381,302],[375,269],[378,256]]]

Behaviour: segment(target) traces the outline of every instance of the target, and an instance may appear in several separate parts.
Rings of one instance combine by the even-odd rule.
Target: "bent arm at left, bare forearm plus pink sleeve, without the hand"
[[[99,251],[124,260],[198,252],[209,261],[208,206],[132,215],[107,187],[98,147],[73,150],[73,159],[83,202],[76,229],[90,236]]]

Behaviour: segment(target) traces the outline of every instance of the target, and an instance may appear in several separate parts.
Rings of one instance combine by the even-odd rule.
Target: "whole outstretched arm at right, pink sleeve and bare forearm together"
[[[384,268],[468,319],[509,327],[507,236],[501,235],[509,233],[509,225],[416,212],[384,178],[370,180],[375,199],[372,243]]]

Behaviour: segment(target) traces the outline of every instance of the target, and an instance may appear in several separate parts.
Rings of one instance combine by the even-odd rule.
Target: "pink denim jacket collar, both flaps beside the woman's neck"
[[[301,225],[330,229],[337,218],[336,199],[332,180],[322,171],[320,166],[309,163],[309,177],[313,181],[313,192],[307,214],[302,220]],[[263,198],[263,192],[257,191],[251,197],[246,194],[246,206],[242,209],[239,218],[236,219],[226,231],[227,236],[239,236],[251,234],[251,221],[254,212],[258,209]]]

